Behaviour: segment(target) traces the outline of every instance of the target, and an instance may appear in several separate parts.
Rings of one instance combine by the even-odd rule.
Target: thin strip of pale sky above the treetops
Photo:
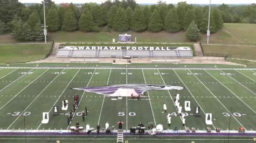
[[[19,2],[22,3],[40,3],[43,0],[19,0]],[[105,0],[52,0],[55,3],[89,3],[89,2],[95,2],[95,3],[101,3]],[[158,0],[136,0],[137,3],[156,3]],[[164,0],[163,0],[164,1]],[[185,0],[183,0],[185,1]],[[165,0],[167,3],[178,3],[183,2],[178,0]],[[186,0],[189,4],[208,4],[209,0]],[[212,4],[251,4],[256,3],[256,0],[211,0]]]

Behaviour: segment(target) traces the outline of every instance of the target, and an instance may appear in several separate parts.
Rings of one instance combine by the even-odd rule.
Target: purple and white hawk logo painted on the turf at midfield
[[[153,90],[182,90],[184,87],[181,86],[170,86],[170,85],[152,85],[152,84],[121,84],[121,85],[107,85],[99,87],[81,87],[72,88],[84,92],[91,92],[101,95],[112,95],[117,89],[134,89],[138,94],[144,94],[147,91]]]

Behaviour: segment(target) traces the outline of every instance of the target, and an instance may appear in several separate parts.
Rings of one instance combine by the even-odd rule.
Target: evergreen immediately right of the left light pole
[[[60,18],[56,9],[50,9],[46,17],[46,25],[49,31],[58,31],[60,28]]]

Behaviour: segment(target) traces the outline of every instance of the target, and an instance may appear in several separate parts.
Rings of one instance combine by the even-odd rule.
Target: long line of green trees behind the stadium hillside
[[[199,38],[200,32],[207,32],[209,15],[207,6],[189,5],[186,2],[179,2],[174,6],[162,1],[155,5],[138,5],[135,0],[107,0],[101,5],[85,3],[76,7],[71,3],[65,7],[45,0],[45,5],[47,30],[51,32],[60,29],[98,32],[101,27],[108,26],[118,32],[131,29],[135,32],[164,30],[176,33],[184,30],[186,35],[196,33]],[[242,8],[244,11],[237,13],[240,20],[236,21],[256,23],[255,4],[237,6],[236,11]],[[238,19],[232,16],[231,12],[234,11],[235,9],[225,4],[213,7],[210,19],[211,33],[221,29],[223,22],[234,22],[234,19]],[[18,0],[3,0],[0,3],[0,14],[0,33],[11,31],[14,39],[24,41],[43,39],[42,4],[24,6]]]

